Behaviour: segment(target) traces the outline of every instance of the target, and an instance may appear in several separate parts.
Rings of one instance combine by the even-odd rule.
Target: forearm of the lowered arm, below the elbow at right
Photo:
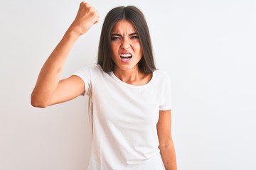
[[[159,146],[159,149],[166,170],[176,170],[177,164],[174,142],[170,142],[169,145]]]

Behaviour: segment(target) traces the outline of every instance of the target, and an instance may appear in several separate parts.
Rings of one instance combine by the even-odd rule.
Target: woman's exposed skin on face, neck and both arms
[[[75,20],[66,31],[63,38],[46,60],[31,94],[31,104],[34,107],[46,108],[57,103],[70,101],[85,93],[85,84],[77,76],[60,80],[60,73],[70,50],[81,35],[99,21],[100,15],[95,8],[85,2],[80,4]],[[116,64],[114,74],[127,84],[147,84],[152,74],[140,72],[138,62],[142,58],[142,49],[137,31],[132,23],[119,21],[112,30],[112,60]],[[120,55],[129,53],[132,59],[122,62]],[[171,111],[160,111],[157,123],[159,149],[164,166],[168,170],[176,169],[176,155],[171,138]]]

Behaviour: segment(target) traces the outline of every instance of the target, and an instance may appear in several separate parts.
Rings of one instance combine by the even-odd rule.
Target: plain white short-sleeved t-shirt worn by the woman
[[[92,151],[88,170],[164,169],[156,123],[171,109],[169,76],[156,70],[148,84],[134,86],[100,65],[75,72],[92,101]]]

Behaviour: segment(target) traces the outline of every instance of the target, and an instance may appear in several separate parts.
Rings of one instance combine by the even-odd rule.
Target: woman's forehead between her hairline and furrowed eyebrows
[[[112,29],[112,33],[136,33],[134,25],[125,19],[117,21]]]

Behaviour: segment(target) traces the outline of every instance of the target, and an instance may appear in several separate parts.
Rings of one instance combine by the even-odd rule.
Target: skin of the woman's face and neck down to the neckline
[[[147,84],[152,74],[144,74],[138,63],[142,59],[142,48],[137,30],[127,20],[118,21],[112,30],[112,60],[115,63],[114,74],[127,84]],[[122,62],[121,55],[130,54],[129,62]]]

